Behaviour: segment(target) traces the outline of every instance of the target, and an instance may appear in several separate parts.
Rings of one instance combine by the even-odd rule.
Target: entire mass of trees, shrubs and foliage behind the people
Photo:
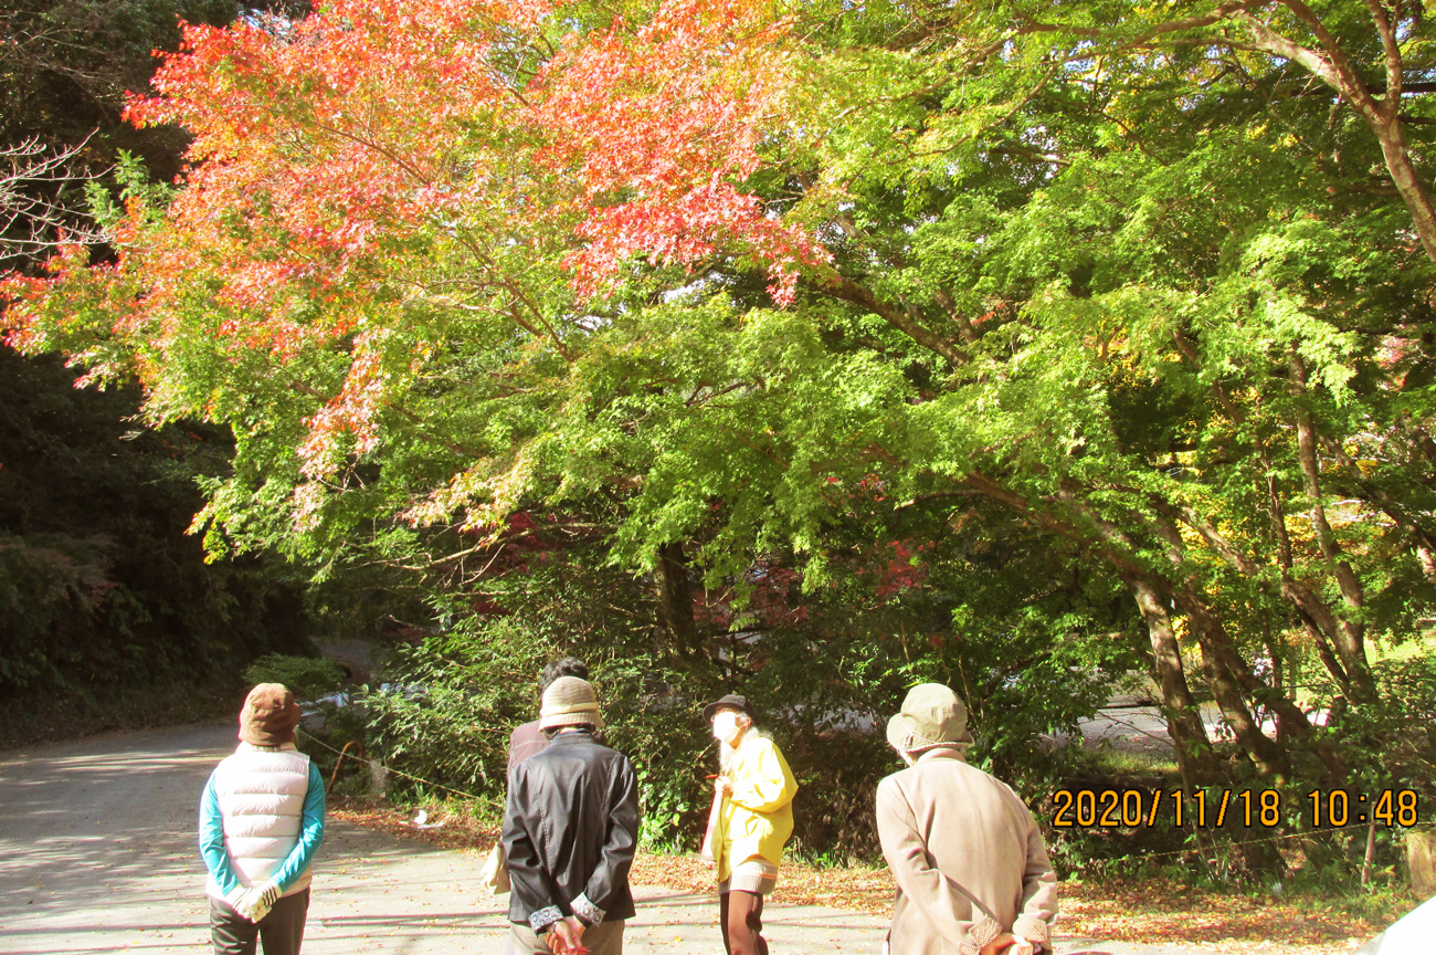
[[[175,14],[210,26],[151,79]],[[45,200],[6,388],[52,396],[0,412],[11,697],[378,635],[399,686],[332,731],[493,797],[576,653],[651,844],[692,834],[698,704],[741,691],[834,859],[872,852],[873,728],[920,679],[1034,807],[1285,793],[1234,869],[1351,873],[1314,787],[1436,797],[1422,6],[6,16]],[[57,53],[82,27],[109,55]],[[1170,761],[1060,745],[1117,691]],[[1051,837],[1206,837],[1136,829]]]

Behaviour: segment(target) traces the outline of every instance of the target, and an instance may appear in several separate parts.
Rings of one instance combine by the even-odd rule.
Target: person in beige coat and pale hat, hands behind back
[[[898,883],[890,955],[1051,949],[1057,875],[1017,793],[964,760],[968,711],[941,684],[908,692],[887,741],[908,764],[877,786],[877,836]]]

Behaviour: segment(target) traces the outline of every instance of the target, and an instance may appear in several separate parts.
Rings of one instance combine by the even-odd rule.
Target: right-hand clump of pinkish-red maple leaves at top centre
[[[824,261],[801,230],[741,182],[784,113],[788,23],[751,0],[675,0],[646,24],[616,22],[550,63],[541,158],[580,182],[589,241],[572,264],[592,294],[633,254],[692,266],[714,254],[764,263],[791,300],[797,270]]]

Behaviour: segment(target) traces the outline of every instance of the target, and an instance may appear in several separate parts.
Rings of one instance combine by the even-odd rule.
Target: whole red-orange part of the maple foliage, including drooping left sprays
[[[404,399],[426,372],[405,349],[570,362],[592,332],[574,297],[635,257],[742,260],[791,300],[826,253],[754,187],[783,144],[790,24],[758,0],[663,0],[597,30],[584,16],[336,0],[185,27],[157,95],[128,106],[194,136],[180,188],[135,192],[113,267],[78,253],[6,286],[11,337],[105,369],[128,356],[165,414],[290,415],[307,520],[379,448],[385,409],[422,427]],[[482,488],[493,507],[523,490],[513,474]]]

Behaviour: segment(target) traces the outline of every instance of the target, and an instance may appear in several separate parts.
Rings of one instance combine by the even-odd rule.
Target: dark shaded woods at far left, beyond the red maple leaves
[[[121,119],[178,17],[233,23],[234,3],[11,3],[0,13],[0,267],[34,271],[89,236],[89,182],[122,152],[180,171],[181,129]],[[109,256],[99,247],[96,256]],[[266,652],[313,652],[303,576],[264,557],[207,563],[187,534],[195,480],[228,470],[227,428],[146,428],[136,381],[76,388],[60,356],[0,346],[0,709],[17,744],[228,712]]]

